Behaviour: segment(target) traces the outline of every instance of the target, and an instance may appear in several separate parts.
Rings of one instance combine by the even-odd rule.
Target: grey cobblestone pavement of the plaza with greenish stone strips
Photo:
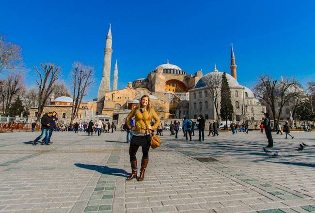
[[[0,213],[315,212],[315,132],[273,134],[270,154],[258,131],[205,141],[164,131],[143,182],[126,182],[126,132],[54,132],[52,145],[33,146],[38,135],[0,134]]]

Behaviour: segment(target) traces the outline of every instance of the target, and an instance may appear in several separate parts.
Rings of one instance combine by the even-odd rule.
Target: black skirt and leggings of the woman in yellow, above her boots
[[[136,154],[140,146],[142,147],[142,159],[149,159],[150,142],[148,141],[148,137],[134,135],[131,138],[129,146],[130,162],[137,160]]]

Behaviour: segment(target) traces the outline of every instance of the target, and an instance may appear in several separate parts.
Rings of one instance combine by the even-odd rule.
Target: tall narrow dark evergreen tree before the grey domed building
[[[229,87],[229,83],[227,82],[226,74],[225,72],[222,75],[222,83],[221,83],[221,110],[220,115],[221,119],[223,121],[232,121],[233,116],[233,105],[231,101],[231,91]]]

